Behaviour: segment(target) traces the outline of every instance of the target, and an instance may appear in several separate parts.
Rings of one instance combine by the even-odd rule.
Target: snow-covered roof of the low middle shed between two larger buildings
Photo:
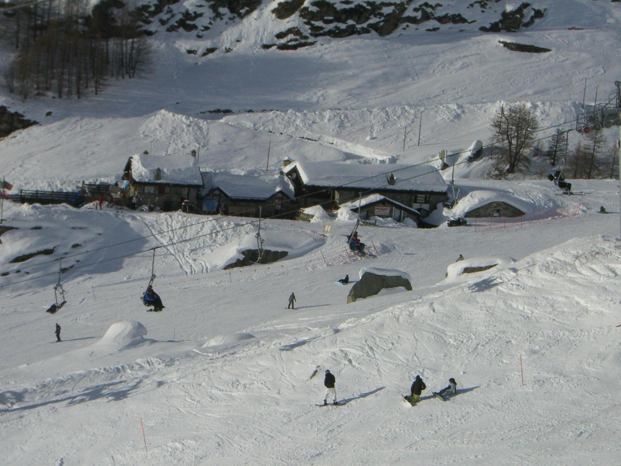
[[[291,181],[282,175],[233,175],[232,173],[212,171],[204,171],[202,175],[205,192],[218,188],[230,198],[268,199],[278,191],[283,191],[289,198],[295,197]]]

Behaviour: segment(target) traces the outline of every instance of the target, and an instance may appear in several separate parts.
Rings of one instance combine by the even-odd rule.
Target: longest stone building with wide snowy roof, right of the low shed
[[[382,194],[392,201],[430,212],[448,199],[446,181],[431,165],[292,162],[283,167],[301,207],[335,208],[360,194]]]

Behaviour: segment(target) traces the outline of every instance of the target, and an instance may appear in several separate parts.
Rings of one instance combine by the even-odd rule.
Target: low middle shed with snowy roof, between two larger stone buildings
[[[204,171],[202,179],[202,211],[207,214],[258,217],[261,212],[263,217],[291,218],[297,213],[293,185],[286,176]]]

